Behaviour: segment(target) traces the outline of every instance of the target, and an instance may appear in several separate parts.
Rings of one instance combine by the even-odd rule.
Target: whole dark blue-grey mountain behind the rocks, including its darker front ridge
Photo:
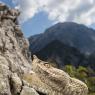
[[[90,66],[88,57],[95,51],[95,30],[74,22],[58,23],[42,34],[31,36],[29,42],[32,54],[42,60],[51,59],[59,67]]]

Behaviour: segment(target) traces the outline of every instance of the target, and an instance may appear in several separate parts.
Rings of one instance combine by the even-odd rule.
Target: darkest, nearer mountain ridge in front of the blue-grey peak
[[[35,54],[42,60],[54,61],[59,68],[66,64],[72,64],[78,67],[82,65],[84,59],[83,54],[76,48],[64,45],[58,40],[52,41]]]

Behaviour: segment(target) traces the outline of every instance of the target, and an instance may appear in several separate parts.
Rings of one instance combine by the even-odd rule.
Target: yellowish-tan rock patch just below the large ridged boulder
[[[36,91],[43,93],[42,95],[48,95],[49,92],[52,92],[51,87],[42,82],[35,72],[32,74],[25,74],[23,80],[24,85],[34,88]]]

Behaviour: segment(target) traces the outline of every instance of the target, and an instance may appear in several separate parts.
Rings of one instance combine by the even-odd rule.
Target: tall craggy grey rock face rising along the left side
[[[24,36],[18,35],[21,29],[16,30],[19,11],[0,3],[0,13],[0,95],[20,95],[22,76],[32,70],[29,44]]]

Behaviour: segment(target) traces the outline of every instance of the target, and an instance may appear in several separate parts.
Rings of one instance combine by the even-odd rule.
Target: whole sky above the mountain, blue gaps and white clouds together
[[[0,0],[21,11],[19,23],[26,37],[44,32],[58,22],[95,28],[95,0]]]

